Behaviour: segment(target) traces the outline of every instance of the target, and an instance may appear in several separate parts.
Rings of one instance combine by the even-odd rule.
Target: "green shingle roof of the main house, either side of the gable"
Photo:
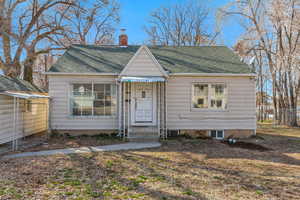
[[[72,45],[49,72],[120,73],[139,47]],[[225,46],[148,48],[171,73],[251,73],[249,66]]]

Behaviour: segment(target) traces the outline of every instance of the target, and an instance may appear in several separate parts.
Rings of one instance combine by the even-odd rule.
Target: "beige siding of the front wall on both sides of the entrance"
[[[118,128],[117,117],[74,117],[70,113],[69,95],[72,83],[116,83],[117,76],[49,77],[52,98],[51,128],[57,130],[112,130]],[[192,83],[226,83],[227,109],[192,110]],[[256,128],[255,81],[249,77],[179,77],[167,82],[168,129],[226,129],[253,130]]]

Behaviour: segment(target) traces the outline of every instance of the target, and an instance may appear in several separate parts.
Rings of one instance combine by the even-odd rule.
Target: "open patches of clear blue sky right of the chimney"
[[[121,23],[119,28],[126,28],[129,44],[141,44],[147,35],[143,27],[149,20],[150,13],[161,6],[172,5],[176,2],[184,3],[188,0],[120,0]],[[232,0],[231,0],[232,1]],[[209,27],[214,28],[215,12],[218,8],[228,4],[230,0],[199,0],[210,10]],[[222,31],[222,44],[231,47],[242,33],[242,28],[234,20],[227,21]]]

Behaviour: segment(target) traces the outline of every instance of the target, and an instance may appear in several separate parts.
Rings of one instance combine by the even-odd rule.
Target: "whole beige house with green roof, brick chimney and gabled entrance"
[[[255,74],[225,46],[73,45],[47,72],[51,129],[127,138],[256,130]]]

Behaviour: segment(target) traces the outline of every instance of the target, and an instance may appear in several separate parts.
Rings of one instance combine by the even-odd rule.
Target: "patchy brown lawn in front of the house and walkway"
[[[1,161],[0,199],[299,199],[300,129],[264,125],[232,147],[176,138],[161,148]]]

